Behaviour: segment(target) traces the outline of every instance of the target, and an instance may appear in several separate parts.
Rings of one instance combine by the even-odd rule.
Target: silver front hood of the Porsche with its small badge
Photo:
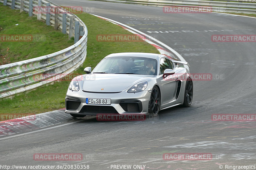
[[[122,92],[148,75],[92,73],[84,77],[83,90],[87,92]],[[147,79],[147,78],[146,78]]]

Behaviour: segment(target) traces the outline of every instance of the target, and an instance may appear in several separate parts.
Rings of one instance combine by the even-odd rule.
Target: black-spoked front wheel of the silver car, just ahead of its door
[[[148,113],[153,117],[157,116],[160,110],[160,106],[161,96],[159,89],[155,86],[151,91],[150,100],[148,104]]]

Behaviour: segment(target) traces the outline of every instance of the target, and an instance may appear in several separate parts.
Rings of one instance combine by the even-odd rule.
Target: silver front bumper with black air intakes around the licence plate
[[[148,114],[148,103],[151,92],[142,91],[136,93],[92,93],[78,92],[68,89],[65,98],[65,113],[77,115],[98,115],[98,114]],[[86,98],[111,99],[110,105],[86,104]]]

